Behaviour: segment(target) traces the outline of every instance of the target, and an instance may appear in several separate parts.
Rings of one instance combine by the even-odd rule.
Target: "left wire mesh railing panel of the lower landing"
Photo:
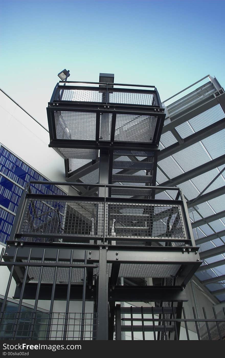
[[[103,236],[103,213],[101,202],[29,198],[20,234]]]

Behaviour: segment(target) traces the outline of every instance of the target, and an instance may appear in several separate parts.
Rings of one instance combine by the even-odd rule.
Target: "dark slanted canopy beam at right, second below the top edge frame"
[[[187,182],[187,180],[195,178],[203,173],[206,173],[209,170],[215,169],[220,165],[225,164],[225,155],[221,155],[219,158],[213,159],[205,164],[198,166],[195,169],[187,171],[184,174],[178,175],[175,178],[167,180],[166,182],[160,184],[162,187],[170,187],[171,185],[178,185],[180,183]],[[162,190],[158,191],[160,193]]]

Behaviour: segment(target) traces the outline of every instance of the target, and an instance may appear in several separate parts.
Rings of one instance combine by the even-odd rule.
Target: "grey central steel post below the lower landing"
[[[97,340],[108,340],[107,250],[99,250]]]

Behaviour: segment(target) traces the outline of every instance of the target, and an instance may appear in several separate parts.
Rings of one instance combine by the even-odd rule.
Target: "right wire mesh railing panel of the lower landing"
[[[186,240],[181,205],[108,202],[107,236]],[[176,242],[176,245],[184,242]]]

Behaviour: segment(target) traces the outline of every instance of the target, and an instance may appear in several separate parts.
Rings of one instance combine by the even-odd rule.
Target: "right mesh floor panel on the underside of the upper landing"
[[[116,115],[115,141],[152,143],[157,116]]]

